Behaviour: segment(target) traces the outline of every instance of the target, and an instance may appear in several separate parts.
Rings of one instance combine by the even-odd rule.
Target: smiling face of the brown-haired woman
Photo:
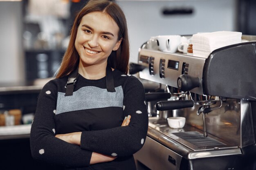
[[[107,13],[96,11],[84,15],[75,41],[83,66],[107,64],[112,50],[121,44],[118,32],[117,23]]]

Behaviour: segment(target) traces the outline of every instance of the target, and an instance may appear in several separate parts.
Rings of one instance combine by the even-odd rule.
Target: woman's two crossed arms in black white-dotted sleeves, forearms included
[[[55,134],[54,121],[59,82],[53,80],[47,83],[38,97],[36,114],[31,127],[32,157],[61,166],[84,167],[115,159],[106,155],[124,157],[137,152],[144,144],[148,115],[143,86],[139,84],[139,80],[135,82],[131,78],[133,77],[130,76],[127,81],[129,86],[126,85],[124,88],[123,101],[124,115],[131,115],[131,122],[124,121],[121,126],[106,130],[83,131],[59,136]],[[117,139],[119,145],[115,144]],[[109,147],[102,148],[101,144]],[[76,157],[76,159],[70,159],[70,157]]]

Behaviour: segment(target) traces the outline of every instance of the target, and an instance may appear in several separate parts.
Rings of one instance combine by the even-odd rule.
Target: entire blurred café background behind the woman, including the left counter
[[[40,89],[60,66],[74,17],[86,2],[0,0],[1,170],[47,169],[45,164],[40,165],[31,159],[31,121]],[[137,63],[140,46],[156,35],[213,31],[256,35],[255,0],[116,2],[128,22],[130,62]]]

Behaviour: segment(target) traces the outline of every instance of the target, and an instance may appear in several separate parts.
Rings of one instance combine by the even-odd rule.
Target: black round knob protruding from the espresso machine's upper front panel
[[[190,91],[200,86],[200,79],[198,77],[182,74],[177,79],[177,86],[181,91]]]

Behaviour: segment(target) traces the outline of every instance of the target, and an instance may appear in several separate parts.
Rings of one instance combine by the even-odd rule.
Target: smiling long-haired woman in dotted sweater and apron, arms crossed
[[[144,88],[128,76],[124,13],[92,0],[74,20],[56,79],[38,98],[31,127],[34,159],[83,170],[136,170],[146,139]]]

